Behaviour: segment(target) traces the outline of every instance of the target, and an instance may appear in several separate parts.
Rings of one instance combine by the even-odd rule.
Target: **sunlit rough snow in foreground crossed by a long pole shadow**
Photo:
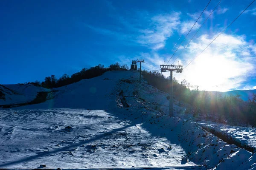
[[[180,166],[185,155],[166,137],[152,136],[143,122],[108,111],[9,110],[1,111],[0,122],[3,167],[165,167]]]

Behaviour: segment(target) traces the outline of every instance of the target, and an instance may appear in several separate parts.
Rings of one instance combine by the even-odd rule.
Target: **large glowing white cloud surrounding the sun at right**
[[[217,36],[202,35],[187,48],[181,64],[186,66]],[[241,50],[243,49],[243,50]],[[250,55],[249,43],[244,36],[222,34],[182,74],[178,79],[186,79],[201,90],[228,91],[241,86],[249,76],[256,74],[255,59]]]

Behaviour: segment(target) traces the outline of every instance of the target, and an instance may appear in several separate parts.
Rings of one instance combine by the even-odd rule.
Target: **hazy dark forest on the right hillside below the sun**
[[[148,84],[169,93],[170,77],[157,71],[142,73]],[[174,98],[178,104],[186,104],[186,114],[215,122],[256,126],[256,94],[248,101],[243,101],[238,95],[222,96],[218,92],[199,91],[198,86],[193,87],[193,90],[191,87],[185,79],[178,82],[173,78]]]

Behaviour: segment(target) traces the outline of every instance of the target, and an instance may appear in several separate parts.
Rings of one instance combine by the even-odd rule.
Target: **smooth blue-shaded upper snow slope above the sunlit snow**
[[[128,79],[137,72],[110,71],[93,79],[83,79],[79,82],[53,88],[54,99],[47,100],[38,105],[24,106],[29,109],[48,108],[84,108],[84,109],[109,109],[116,106],[116,84],[121,79]]]

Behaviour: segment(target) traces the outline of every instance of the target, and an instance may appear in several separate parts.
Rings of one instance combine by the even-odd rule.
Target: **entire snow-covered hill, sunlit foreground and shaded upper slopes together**
[[[256,167],[251,152],[209,133],[215,126],[190,119],[186,108],[175,105],[169,117],[168,94],[138,79],[137,71],[109,71],[54,88],[46,102],[0,109],[0,168]],[[11,92],[49,92],[28,88]]]

